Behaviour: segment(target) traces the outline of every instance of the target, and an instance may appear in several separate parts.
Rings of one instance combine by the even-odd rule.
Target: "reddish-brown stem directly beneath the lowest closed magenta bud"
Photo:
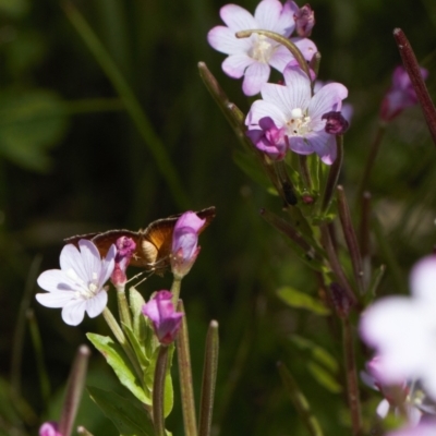
[[[156,361],[155,378],[153,382],[153,423],[156,436],[166,436],[165,432],[165,377],[168,365],[168,347],[160,346]]]

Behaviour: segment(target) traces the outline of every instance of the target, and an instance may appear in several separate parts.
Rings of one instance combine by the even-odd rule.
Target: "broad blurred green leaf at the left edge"
[[[66,112],[57,94],[0,93],[0,154],[16,165],[47,171],[51,161],[46,149],[60,141],[65,128]]]

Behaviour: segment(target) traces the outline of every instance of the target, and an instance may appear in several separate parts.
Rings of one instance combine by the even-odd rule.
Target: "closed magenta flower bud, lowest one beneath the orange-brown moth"
[[[174,341],[183,316],[183,313],[174,311],[171,298],[170,291],[158,291],[143,305],[143,314],[152,319],[156,336],[165,346]]]

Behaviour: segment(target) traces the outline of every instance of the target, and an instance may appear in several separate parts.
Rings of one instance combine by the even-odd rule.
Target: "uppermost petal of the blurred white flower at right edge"
[[[436,317],[436,256],[426,256],[417,262],[410,274],[410,286],[414,295],[434,301]]]

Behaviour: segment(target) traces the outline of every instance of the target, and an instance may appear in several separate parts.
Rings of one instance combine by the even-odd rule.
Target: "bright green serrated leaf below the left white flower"
[[[142,383],[135,375],[135,371],[122,350],[121,346],[113,342],[108,336],[86,334],[94,347],[104,355],[112,367],[117,377],[142,403],[152,404],[150,398],[144,392]]]

